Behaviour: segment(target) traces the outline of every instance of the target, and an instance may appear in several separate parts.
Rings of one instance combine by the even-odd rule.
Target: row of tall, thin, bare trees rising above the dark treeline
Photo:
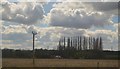
[[[62,37],[59,40],[58,50],[103,50],[101,37]]]

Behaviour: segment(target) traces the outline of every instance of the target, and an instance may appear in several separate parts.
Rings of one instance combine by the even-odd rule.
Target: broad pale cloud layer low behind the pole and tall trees
[[[22,49],[32,49],[32,33],[31,31],[37,31],[38,34],[36,35],[36,48],[56,48],[58,46],[58,41],[62,36],[65,37],[74,37],[74,36],[92,36],[92,37],[102,37],[104,41],[104,49],[110,49],[111,46],[117,49],[117,32],[111,30],[95,30],[90,31],[88,29],[76,29],[76,28],[64,28],[64,27],[47,27],[47,28],[40,28],[36,26],[26,26],[25,28],[21,25],[21,27],[11,26],[6,28],[7,29],[15,29],[22,28],[26,30],[27,33],[18,33],[13,31],[12,33],[3,33],[3,40],[6,41],[3,44],[6,45],[5,47],[8,48],[22,48]],[[32,28],[32,29],[31,29]],[[18,31],[19,31],[18,30]],[[8,41],[9,40],[9,41]],[[12,45],[15,46],[12,46]]]

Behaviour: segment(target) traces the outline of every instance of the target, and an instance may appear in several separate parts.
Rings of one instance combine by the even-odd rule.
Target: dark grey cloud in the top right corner
[[[118,14],[118,2],[87,2],[87,7],[92,7],[94,11],[104,12],[107,15]]]

